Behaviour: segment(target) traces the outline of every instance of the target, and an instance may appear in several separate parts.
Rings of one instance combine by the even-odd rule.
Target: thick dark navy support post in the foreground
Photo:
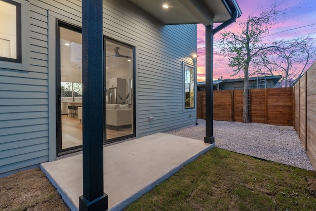
[[[102,0],[82,0],[83,195],[79,211],[108,210],[103,191]]]

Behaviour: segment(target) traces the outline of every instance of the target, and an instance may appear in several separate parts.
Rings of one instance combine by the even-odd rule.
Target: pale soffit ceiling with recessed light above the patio
[[[222,23],[231,18],[227,0],[127,0],[163,24],[194,24],[204,26]],[[230,1],[241,11],[235,0]],[[233,2],[233,3],[232,3]],[[163,8],[167,4],[169,8]]]

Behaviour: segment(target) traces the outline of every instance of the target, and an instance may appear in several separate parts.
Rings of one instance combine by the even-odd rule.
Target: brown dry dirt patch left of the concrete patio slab
[[[40,168],[0,178],[1,211],[69,211]]]

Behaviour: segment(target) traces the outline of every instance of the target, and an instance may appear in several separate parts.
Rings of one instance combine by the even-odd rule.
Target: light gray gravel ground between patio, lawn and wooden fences
[[[198,126],[167,133],[204,140],[205,120],[199,119]],[[294,127],[214,121],[214,136],[216,147],[301,169],[315,170]]]

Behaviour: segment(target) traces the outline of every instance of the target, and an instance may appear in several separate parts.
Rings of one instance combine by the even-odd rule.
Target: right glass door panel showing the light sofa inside
[[[104,39],[106,108],[105,142],[135,136],[134,47]]]

